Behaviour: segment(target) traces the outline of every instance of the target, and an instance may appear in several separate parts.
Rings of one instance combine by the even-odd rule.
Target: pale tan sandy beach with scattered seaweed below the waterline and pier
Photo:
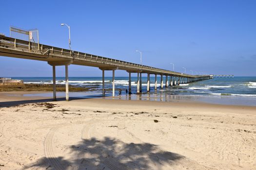
[[[256,170],[256,107],[14,93],[0,93],[0,170]]]

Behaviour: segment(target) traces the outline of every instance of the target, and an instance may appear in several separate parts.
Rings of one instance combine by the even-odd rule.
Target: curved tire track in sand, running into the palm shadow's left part
[[[64,167],[60,164],[58,158],[56,158],[53,150],[52,140],[54,133],[58,130],[58,127],[51,128],[44,140],[44,155],[51,166],[56,170],[64,170]]]

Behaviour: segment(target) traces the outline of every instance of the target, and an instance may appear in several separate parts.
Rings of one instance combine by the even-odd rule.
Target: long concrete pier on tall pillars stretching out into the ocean
[[[56,66],[65,66],[66,100],[69,100],[68,92],[68,66],[82,65],[97,67],[102,70],[102,95],[105,95],[104,72],[111,70],[113,74],[113,96],[115,96],[115,70],[126,70],[129,73],[129,93],[131,94],[131,74],[136,73],[137,93],[142,92],[142,74],[147,74],[147,91],[150,91],[150,75],[155,75],[155,90],[157,90],[157,75],[161,76],[160,88],[163,88],[163,76],[165,76],[165,87],[169,85],[180,85],[210,78],[210,75],[189,75],[161,68],[154,68],[135,63],[125,62],[117,59],[101,57],[79,51],[70,51],[48,45],[38,44],[39,50],[33,47],[29,41],[15,39],[0,35],[0,56],[46,61],[53,68],[53,98],[56,100]],[[168,82],[168,77],[170,82]]]

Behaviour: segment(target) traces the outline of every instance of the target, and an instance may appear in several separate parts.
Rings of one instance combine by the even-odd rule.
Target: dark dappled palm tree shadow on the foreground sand
[[[45,148],[47,150],[49,148]],[[161,151],[150,143],[124,143],[105,137],[83,139],[70,146],[69,160],[53,155],[43,157],[23,170],[45,168],[47,170],[157,170],[159,166],[172,166],[184,158],[176,153]]]

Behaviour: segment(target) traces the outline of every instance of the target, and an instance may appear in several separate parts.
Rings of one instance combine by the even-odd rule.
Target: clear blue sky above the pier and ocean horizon
[[[7,0],[0,33],[9,26],[39,29],[42,44],[184,72],[256,76],[256,0]],[[0,56],[0,77],[52,76],[46,62]],[[70,76],[101,76],[69,67]],[[111,71],[106,72],[110,76]],[[116,76],[127,76],[116,71]],[[64,67],[57,67],[64,76]]]

